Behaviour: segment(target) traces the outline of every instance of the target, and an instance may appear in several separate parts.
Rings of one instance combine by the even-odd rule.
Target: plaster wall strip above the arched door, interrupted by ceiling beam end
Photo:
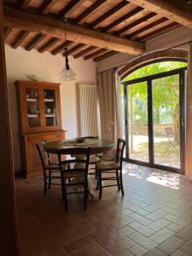
[[[167,49],[177,44],[183,44],[192,40],[192,30],[187,27],[179,27],[172,32],[167,32],[164,35],[161,35],[158,38],[148,40],[146,43],[146,50],[143,54],[158,50],[158,49]],[[177,47],[177,49],[187,49],[188,44]],[[97,65],[97,72],[102,72],[108,68],[117,67],[119,65],[124,65],[127,62],[135,59],[136,55],[126,55],[118,54],[109,57],[103,61],[99,61]]]

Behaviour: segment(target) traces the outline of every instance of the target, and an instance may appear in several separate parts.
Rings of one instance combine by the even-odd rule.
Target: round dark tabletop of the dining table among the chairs
[[[91,153],[107,152],[115,148],[116,143],[108,139],[84,138],[61,140],[44,144],[44,150],[48,153],[57,154],[62,149],[91,148]]]

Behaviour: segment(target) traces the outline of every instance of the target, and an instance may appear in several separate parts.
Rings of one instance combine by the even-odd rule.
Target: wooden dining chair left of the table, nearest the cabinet
[[[47,193],[47,186],[48,189],[50,189],[51,185],[61,186],[61,171],[59,163],[56,164],[51,162],[50,154],[44,151],[45,143],[47,143],[47,141],[36,144],[44,172],[44,195]],[[53,173],[57,173],[57,175],[53,175]],[[52,180],[55,179],[60,179],[60,183],[52,183]]]

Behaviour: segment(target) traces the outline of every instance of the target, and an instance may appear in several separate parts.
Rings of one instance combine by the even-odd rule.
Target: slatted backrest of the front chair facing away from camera
[[[90,152],[91,148],[67,148],[67,149],[61,149],[58,152],[58,160],[59,165],[61,168],[61,171],[68,171],[68,166],[70,164],[73,164],[73,170],[75,172],[84,172],[84,177],[88,176],[89,171],[89,164],[90,164]],[[62,160],[62,155],[70,154],[75,155],[75,159],[73,160]],[[83,155],[83,156],[82,156]],[[83,165],[79,165],[83,164]],[[67,169],[65,170],[65,166],[67,166]],[[70,170],[71,171],[71,170]]]

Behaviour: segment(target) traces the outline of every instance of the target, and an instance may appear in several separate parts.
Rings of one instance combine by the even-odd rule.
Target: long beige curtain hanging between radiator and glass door
[[[123,136],[120,78],[110,70],[97,75],[97,92],[100,107],[101,137],[117,140]]]

